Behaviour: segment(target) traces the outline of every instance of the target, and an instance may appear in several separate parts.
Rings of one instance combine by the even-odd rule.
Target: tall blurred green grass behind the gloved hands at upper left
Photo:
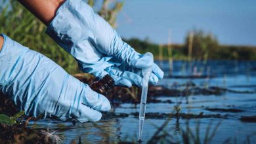
[[[96,2],[89,1],[89,4],[93,7]],[[98,13],[115,26],[116,15],[121,10],[123,2],[116,2],[114,7],[108,7],[112,3],[113,1],[104,0]],[[79,72],[74,58],[45,34],[47,27],[20,3],[15,0],[0,1],[0,12],[1,33],[5,33],[21,45],[44,54],[70,74]]]

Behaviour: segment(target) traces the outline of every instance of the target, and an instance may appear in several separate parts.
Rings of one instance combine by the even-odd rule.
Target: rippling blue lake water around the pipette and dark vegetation
[[[256,143],[256,122],[242,122],[242,116],[256,115],[256,62],[247,61],[209,61],[209,62],[173,62],[173,77],[169,77],[169,63],[156,62],[165,71],[165,78],[158,84],[166,88],[173,88],[173,84],[185,84],[188,81],[194,82],[200,87],[219,86],[228,88],[228,91],[221,96],[202,94],[192,95],[188,98],[173,97],[171,94],[165,94],[158,99],[170,99],[175,103],[148,103],[146,105],[146,113],[172,113],[174,105],[181,101],[180,113],[192,113],[195,115],[213,115],[220,114],[225,118],[192,118],[180,119],[177,123],[176,118],[171,118],[169,123],[160,132],[168,134],[169,142],[183,143],[182,133],[186,132],[189,124],[190,133],[195,137],[198,135],[200,141],[203,142],[207,130],[209,135],[215,127],[220,123],[211,143],[243,143],[250,141]],[[192,79],[183,76],[189,75],[205,75],[208,78]],[[182,86],[176,86],[181,89]],[[244,93],[243,93],[244,92]],[[188,102],[188,103],[187,103]],[[208,111],[207,108],[219,109],[239,109],[241,112],[221,112]],[[118,141],[137,141],[137,130],[139,126],[139,118],[131,113],[139,112],[139,105],[135,106],[131,103],[123,103],[120,107],[116,107],[115,113],[127,113],[128,117],[107,118],[102,117],[99,122],[87,122],[84,124],[62,123],[53,120],[41,120],[37,122],[39,128],[49,128],[49,132],[56,131],[55,134],[63,135],[64,143],[71,143],[72,140],[81,137],[82,143],[117,143]],[[144,121],[143,140],[149,141],[152,135],[156,133],[158,128],[166,122],[167,117],[163,118],[147,118]],[[33,122],[32,122],[33,123]],[[208,128],[211,125],[211,128]],[[198,128],[198,134],[197,129]],[[159,141],[160,142],[160,141]],[[168,141],[165,141],[168,142]],[[168,142],[168,143],[169,143]]]

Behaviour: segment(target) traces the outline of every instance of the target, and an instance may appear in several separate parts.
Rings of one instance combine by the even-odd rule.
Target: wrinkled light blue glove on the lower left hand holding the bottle
[[[2,36],[5,42],[0,52],[0,90],[26,115],[86,122],[100,120],[98,111],[110,110],[107,98],[52,60]]]

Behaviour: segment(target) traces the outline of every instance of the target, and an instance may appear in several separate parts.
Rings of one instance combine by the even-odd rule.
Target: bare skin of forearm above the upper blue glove
[[[26,9],[37,16],[45,25],[53,20],[56,10],[65,0],[18,0]]]

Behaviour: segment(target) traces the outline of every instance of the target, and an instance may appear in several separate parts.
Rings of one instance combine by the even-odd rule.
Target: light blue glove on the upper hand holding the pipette
[[[117,85],[141,86],[141,69],[152,66],[150,83],[163,78],[163,71],[150,56],[136,52],[85,1],[67,0],[47,28],[58,45],[72,54],[81,71],[95,77],[110,74]]]

